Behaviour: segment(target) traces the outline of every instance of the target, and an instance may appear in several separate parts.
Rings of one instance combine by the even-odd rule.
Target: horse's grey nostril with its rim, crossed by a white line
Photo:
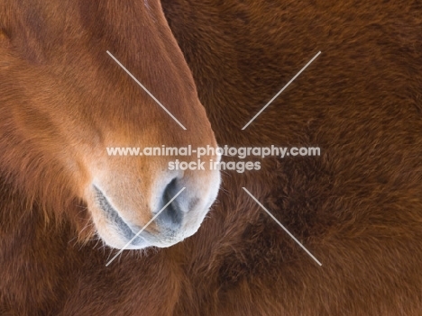
[[[158,203],[158,208],[153,210],[153,215],[157,216],[156,222],[162,229],[179,230],[183,218],[188,212],[183,207],[181,201],[185,197],[183,194],[186,188],[179,184],[178,178],[173,178],[164,188],[161,195],[161,203]]]

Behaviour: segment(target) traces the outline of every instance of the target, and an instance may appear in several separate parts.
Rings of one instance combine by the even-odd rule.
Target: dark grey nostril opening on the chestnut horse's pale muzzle
[[[161,208],[164,207],[170,200],[179,192],[179,185],[177,178],[171,180],[170,184],[166,186],[162,194]],[[178,199],[179,195],[173,200],[158,216],[157,221],[164,227],[170,230],[177,230],[183,221],[183,212],[180,210]],[[160,208],[160,209],[161,209]],[[160,210],[157,210],[160,211]]]

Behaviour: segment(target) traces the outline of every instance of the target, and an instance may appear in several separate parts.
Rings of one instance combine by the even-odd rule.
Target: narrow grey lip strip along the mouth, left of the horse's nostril
[[[105,213],[105,218],[110,224],[114,225],[123,235],[125,239],[132,240],[135,235],[139,232],[133,230],[133,225],[128,224],[124,219],[120,216],[119,212],[115,210],[115,208],[108,202],[105,194],[96,186],[94,186],[94,190],[96,192],[96,204],[99,208]],[[136,246],[143,241],[141,236],[136,236],[135,239],[131,242],[132,245]]]

